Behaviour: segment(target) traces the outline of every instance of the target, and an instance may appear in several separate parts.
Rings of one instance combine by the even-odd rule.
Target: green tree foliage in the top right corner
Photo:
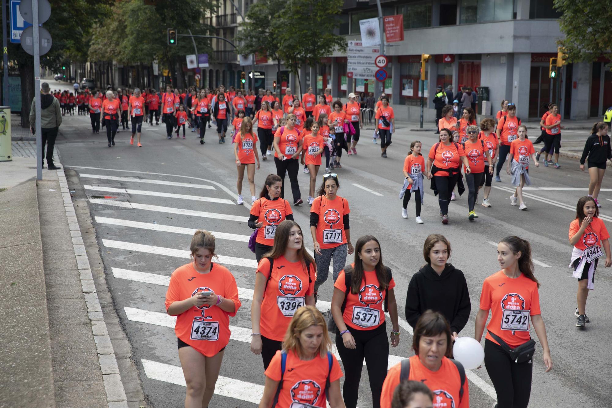
[[[559,26],[565,38],[558,44],[568,62],[593,62],[602,56],[612,61],[610,2],[554,0],[554,7],[562,13]]]

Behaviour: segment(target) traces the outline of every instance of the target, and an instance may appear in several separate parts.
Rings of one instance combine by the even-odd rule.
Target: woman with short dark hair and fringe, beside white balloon
[[[408,380],[427,385],[433,391],[436,407],[469,408],[469,387],[465,368],[451,358],[451,333],[444,315],[431,310],[421,315],[414,327],[412,350],[416,355],[389,369],[383,383],[381,408],[391,408],[395,389],[400,382]],[[406,365],[408,365],[406,367],[408,375],[401,378],[402,369]],[[460,374],[461,371],[464,372],[463,376]]]

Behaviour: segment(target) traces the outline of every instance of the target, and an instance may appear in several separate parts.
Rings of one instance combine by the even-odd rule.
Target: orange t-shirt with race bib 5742
[[[480,309],[491,309],[487,339],[499,344],[488,333],[493,331],[511,348],[518,347],[531,339],[529,318],[541,313],[537,284],[522,273],[516,279],[494,273],[482,283]]]

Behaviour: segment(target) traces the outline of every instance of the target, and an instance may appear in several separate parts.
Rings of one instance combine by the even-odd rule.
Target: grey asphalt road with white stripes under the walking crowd
[[[256,406],[264,376],[261,358],[250,353],[247,343],[248,290],[253,288],[255,257],[245,241],[251,232],[245,222],[248,205],[226,201],[235,203],[236,199],[236,170],[230,143],[219,145],[214,128],[207,130],[208,142],[200,145],[192,132],[187,132],[186,140],[166,140],[163,125],[145,125],[143,148],[129,145],[128,130],[118,134],[116,146],[108,148],[103,131],[92,135],[89,118],[83,116],[65,118],[61,130],[57,143],[61,161],[80,180],[80,184],[71,186],[76,191],[75,199],[87,202],[90,207],[108,285],[132,344],[133,360],[150,406],[170,408],[184,404],[184,380],[173,321],[165,314],[163,302],[168,277],[177,266],[187,262],[186,252],[182,251],[187,251],[194,229],[224,233],[218,235],[218,254],[234,257],[226,259],[226,265],[236,276],[238,286],[245,289],[241,291],[242,308],[230,320],[235,327],[233,339],[225,352],[222,378],[212,406]],[[542,284],[540,303],[554,363],[553,371],[545,373],[542,349],[538,346],[530,406],[612,406],[609,392],[612,369],[606,358],[612,346],[609,336],[612,317],[605,295],[612,290],[610,270],[600,268],[597,272],[596,289],[588,301],[591,323],[587,328],[575,327],[573,316],[577,282],[567,268],[572,251],[567,232],[575,216],[576,202],[586,194],[588,186],[588,175],[578,170],[578,163],[561,159],[561,169],[532,167],[532,189],[525,191],[526,211],[510,206],[510,177],[502,173],[502,183],[494,183],[491,192],[492,208],[478,205],[479,218],[474,222],[468,221],[465,193],[450,205],[450,224],[442,225],[437,200],[427,190],[422,210],[425,224],[417,225],[414,200],[408,205],[410,217],[401,218],[398,200],[403,181],[401,168],[412,140],[422,141],[426,152],[437,142],[437,135],[397,129],[389,157],[383,159],[379,146],[373,145],[368,137],[371,130],[364,130],[363,134],[357,146],[359,154],[343,157],[344,167],[337,170],[339,194],[351,205],[353,242],[371,233],[382,243],[384,262],[394,271],[397,282],[400,317],[404,315],[409,279],[425,263],[424,240],[430,233],[442,233],[452,243],[450,262],[465,273],[472,301],[471,319],[460,334],[473,336],[483,279],[499,270],[494,244],[507,235],[521,236],[531,242],[537,261],[535,274]],[[269,173],[275,173],[273,161],[262,162],[255,176],[258,190]],[[305,198],[308,176],[300,173],[299,179]],[[612,181],[606,178],[603,184],[608,190],[602,191],[600,202],[609,224],[612,200],[606,198],[612,198]],[[246,181],[243,191],[247,197]],[[201,197],[220,200],[198,201]],[[286,198],[291,200],[291,195],[288,193]],[[296,221],[307,229],[308,206],[294,207],[293,211]],[[312,249],[310,239],[306,243]],[[326,282],[319,294],[322,300],[329,301],[332,282]],[[324,304],[319,308],[326,309]],[[409,350],[412,338],[406,328],[408,325],[403,322],[400,345],[390,351],[394,356],[412,355]],[[537,341],[533,330],[532,337]],[[485,369],[474,370],[468,379],[471,406],[490,407],[494,390]],[[365,366],[359,406],[371,406]]]

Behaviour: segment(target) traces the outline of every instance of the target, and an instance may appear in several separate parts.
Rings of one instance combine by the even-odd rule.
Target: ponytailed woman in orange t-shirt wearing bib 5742
[[[546,372],[553,368],[546,327],[540,312],[540,283],[534,276],[528,241],[518,236],[506,236],[498,244],[498,262],[502,270],[489,276],[482,284],[474,338],[480,342],[491,311],[485,339],[485,366],[495,387],[498,404],[526,408],[531,393],[533,353],[523,361],[515,361],[504,347],[514,349],[531,341],[531,318],[535,334],[542,344]],[[502,347],[501,343],[505,343],[505,346]]]

